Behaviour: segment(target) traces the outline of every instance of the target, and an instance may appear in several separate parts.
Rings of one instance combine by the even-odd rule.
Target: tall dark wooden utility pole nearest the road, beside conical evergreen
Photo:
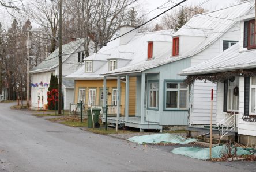
[[[62,107],[62,0],[59,1],[59,97],[58,97],[58,114],[61,115]]]

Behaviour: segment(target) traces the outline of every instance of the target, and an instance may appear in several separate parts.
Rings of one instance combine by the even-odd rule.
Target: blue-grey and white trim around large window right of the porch
[[[187,86],[187,88],[182,88],[180,89],[180,83],[183,83],[184,80],[164,80],[164,96],[163,96],[163,99],[164,99],[164,103],[163,103],[163,111],[189,111],[189,86]],[[175,88],[178,90],[178,101],[177,101],[177,105],[178,105],[178,108],[167,108],[166,107],[166,92],[168,90],[171,90],[171,88],[166,88],[166,84],[167,83],[177,83],[178,84],[178,88]],[[179,108],[179,91],[182,90],[182,91],[187,91],[187,108]]]

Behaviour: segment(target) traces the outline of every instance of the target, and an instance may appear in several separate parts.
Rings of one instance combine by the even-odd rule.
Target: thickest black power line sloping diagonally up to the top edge
[[[109,42],[111,42],[111,41],[114,41],[114,40],[116,40],[116,39],[118,39],[118,38],[120,38],[120,37],[122,37],[122,36],[125,36],[126,34],[128,34],[128,33],[130,33],[130,32],[133,32],[135,29],[138,29],[138,28],[140,28],[141,26],[144,26],[145,24],[148,24],[150,21],[153,21],[153,19],[156,19],[157,17],[159,17],[159,16],[163,15],[164,13],[167,13],[167,11],[170,11],[171,9],[174,9],[176,6],[179,6],[180,4],[182,4],[182,3],[186,2],[186,1],[187,1],[187,0],[183,0],[183,1],[179,2],[179,3],[177,3],[176,5],[174,5],[174,6],[170,7],[169,9],[167,9],[167,10],[163,11],[162,13],[160,13],[160,14],[156,15],[156,16],[155,16],[155,17],[153,17],[152,19],[149,19],[148,21],[144,22],[144,23],[143,23],[143,24],[141,24],[140,26],[137,26],[136,28],[131,29],[129,32],[126,32],[126,33],[122,34],[121,36],[115,37],[115,38],[113,38],[113,39],[112,39],[112,40],[110,40],[110,41],[104,42],[104,43],[103,43],[103,44],[101,44],[101,45],[97,45],[97,46],[94,46],[94,47],[92,47],[92,48],[89,48],[88,50],[90,50],[90,49],[94,49],[94,48],[96,48],[96,47],[98,47],[98,46],[104,46],[104,45],[108,44],[108,43],[109,43]],[[83,50],[82,50],[82,51],[77,51],[76,53],[79,53],[79,52],[84,52],[84,51],[83,51]],[[65,55],[71,55],[71,54],[74,54],[74,53],[62,54],[62,56],[65,56]],[[58,55],[58,56],[59,56],[59,55]],[[58,56],[55,56],[55,57],[49,58],[49,59],[44,60],[44,61],[52,60],[53,58],[56,58],[56,57],[58,57]]]

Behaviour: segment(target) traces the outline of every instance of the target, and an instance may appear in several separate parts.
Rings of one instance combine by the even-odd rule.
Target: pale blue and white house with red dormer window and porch
[[[252,2],[243,2],[225,9],[195,15],[172,36],[172,46],[168,46],[167,53],[129,67],[103,73],[106,79],[137,77],[137,118],[128,118],[126,114],[126,118],[119,119],[119,123],[141,130],[161,130],[163,126],[209,124],[208,97],[211,88],[216,91],[216,84],[195,81],[189,88],[184,83],[185,76],[177,74],[183,69],[214,58],[238,42],[240,24],[235,22],[234,18],[249,13],[253,6]],[[129,88],[126,87],[127,96]],[[216,95],[213,112],[215,120]]]

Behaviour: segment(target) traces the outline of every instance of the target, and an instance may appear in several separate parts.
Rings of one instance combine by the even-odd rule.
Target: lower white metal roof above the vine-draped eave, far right
[[[256,68],[256,50],[239,52],[239,42],[212,60],[187,68],[179,75],[198,75]]]

